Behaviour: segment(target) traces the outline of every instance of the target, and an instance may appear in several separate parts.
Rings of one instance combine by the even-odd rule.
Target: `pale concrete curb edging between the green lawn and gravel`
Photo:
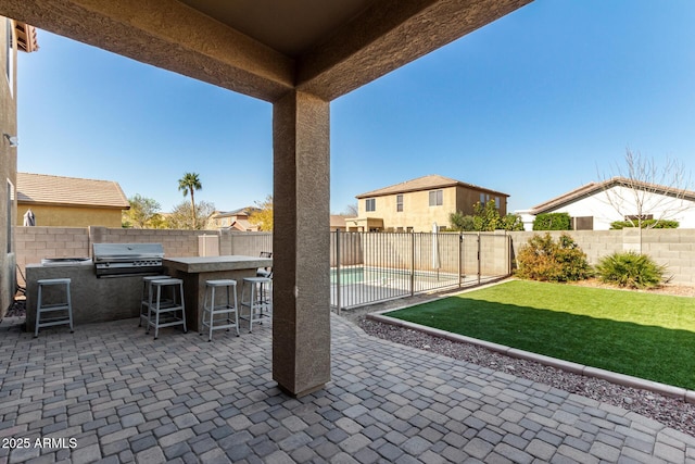
[[[378,321],[384,324],[391,324],[397,327],[419,330],[421,333],[429,334],[435,337],[441,337],[451,341],[476,344],[478,347],[482,347],[494,352],[506,354],[507,356],[510,356],[510,358],[533,361],[540,364],[556,367],[573,374],[604,379],[614,384],[622,385],[624,387],[632,387],[632,388],[639,388],[642,390],[653,391],[655,393],[664,394],[665,397],[677,398],[687,403],[695,404],[694,390],[686,390],[685,388],[674,387],[672,385],[666,385],[666,384],[660,384],[658,381],[646,380],[640,377],[633,377],[630,375],[619,374],[619,373],[615,373],[611,371],[606,371],[597,367],[585,366],[583,364],[572,363],[569,361],[559,360],[557,358],[551,358],[543,354],[536,354],[530,351],[523,351],[523,350],[510,348],[504,344],[492,343],[490,341],[479,340],[477,338],[466,337],[458,334],[452,334],[445,330],[427,327],[420,324],[396,319],[395,317],[386,316],[383,314],[392,311],[395,311],[395,310],[387,310],[387,311],[367,314],[366,317],[372,321]]]

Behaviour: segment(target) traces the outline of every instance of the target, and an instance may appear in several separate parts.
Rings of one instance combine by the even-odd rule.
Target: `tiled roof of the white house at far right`
[[[567,193],[563,193],[559,197],[555,197],[552,200],[548,200],[544,203],[533,206],[529,211],[529,213],[542,214],[549,211],[554,211],[554,210],[557,210],[558,208],[563,208],[567,204],[573,203],[583,198],[591,197],[597,192],[608,190],[612,187],[618,187],[618,186],[629,187],[629,188],[641,188],[643,190],[652,191],[655,193],[680,197],[680,198],[683,198],[684,200],[695,201],[695,191],[672,189],[672,188],[660,186],[657,184],[632,180],[626,177],[612,177],[610,179],[603,180],[599,183],[589,183],[582,187],[576,188],[574,190],[568,191]]]

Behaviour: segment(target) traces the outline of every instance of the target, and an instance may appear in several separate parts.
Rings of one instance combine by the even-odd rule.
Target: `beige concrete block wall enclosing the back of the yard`
[[[273,234],[270,233],[235,233],[229,230],[170,230],[170,229],[123,229],[106,227],[16,227],[14,236],[16,262],[24,272],[27,264],[38,264],[43,258],[80,258],[91,256],[92,243],[162,243],[166,256],[197,256],[199,255],[199,237],[202,235],[216,236],[219,240],[220,254],[258,255],[261,251],[273,251]],[[695,229],[649,229],[640,230],[570,230],[567,231],[586,253],[591,264],[598,263],[602,256],[616,251],[639,250],[650,255],[657,263],[667,266],[667,274],[672,276],[672,283],[695,286]],[[333,233],[334,234],[334,233]],[[409,241],[402,244],[395,240],[397,234],[379,234],[381,239],[388,236],[392,250],[409,247]],[[519,249],[533,237],[533,231],[502,233],[493,236],[483,235],[480,241],[481,262],[492,268],[482,273],[498,274],[501,267],[511,262]],[[542,233],[544,234],[544,233]],[[560,231],[549,233],[557,238]],[[458,239],[448,239],[441,234],[439,252],[442,268],[452,267],[450,251],[458,250]],[[345,237],[348,237],[346,235]],[[510,240],[507,240],[506,237]],[[341,249],[340,260],[343,265],[359,263],[365,249],[376,238],[353,237],[351,244]],[[422,238],[421,240],[427,240]],[[473,235],[464,236],[464,265],[467,272],[476,265],[478,244]],[[510,249],[509,249],[510,242]],[[356,244],[355,244],[356,243]],[[332,247],[331,247],[332,250]],[[422,267],[432,261],[432,247],[424,243],[418,247],[418,262]],[[331,251],[331,262],[338,256]],[[397,253],[401,254],[401,253]],[[331,263],[334,265],[334,263]]]

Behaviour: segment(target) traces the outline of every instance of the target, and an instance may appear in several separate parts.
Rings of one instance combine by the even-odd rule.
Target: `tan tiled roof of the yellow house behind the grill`
[[[113,180],[29,173],[17,173],[17,202],[130,209],[121,186]]]

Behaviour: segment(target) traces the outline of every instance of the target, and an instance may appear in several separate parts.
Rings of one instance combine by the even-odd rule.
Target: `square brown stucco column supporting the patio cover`
[[[273,378],[301,397],[330,380],[330,104],[274,103]]]

